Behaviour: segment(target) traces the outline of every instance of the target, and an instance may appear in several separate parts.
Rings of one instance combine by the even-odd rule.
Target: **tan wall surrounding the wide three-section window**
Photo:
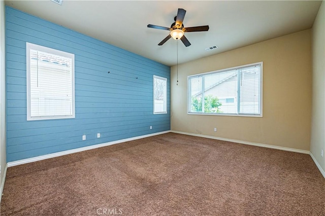
[[[187,115],[188,75],[259,61],[264,62],[263,118]],[[172,130],[309,150],[310,29],[181,64],[178,86],[176,66],[171,71]]]

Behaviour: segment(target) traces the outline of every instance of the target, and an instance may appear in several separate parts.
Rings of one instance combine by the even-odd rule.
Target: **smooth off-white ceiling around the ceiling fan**
[[[179,63],[233,50],[312,27],[321,1],[5,1],[6,5],[73,29],[166,65],[176,64],[176,41],[157,44],[178,8],[186,10],[184,27],[191,46],[179,43]],[[206,51],[205,48],[218,48]]]

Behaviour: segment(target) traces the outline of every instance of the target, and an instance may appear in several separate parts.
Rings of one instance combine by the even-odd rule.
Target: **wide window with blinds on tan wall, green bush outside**
[[[262,117],[263,62],[188,76],[188,114]]]

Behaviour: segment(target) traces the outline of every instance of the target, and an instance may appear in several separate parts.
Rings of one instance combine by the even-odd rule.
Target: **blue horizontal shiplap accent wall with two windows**
[[[75,119],[26,121],[26,42],[75,54]],[[6,46],[8,162],[170,130],[169,66],[10,7]],[[153,115],[153,75],[168,114]]]

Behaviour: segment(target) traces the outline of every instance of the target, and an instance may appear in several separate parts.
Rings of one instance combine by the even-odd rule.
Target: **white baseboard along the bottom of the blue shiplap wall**
[[[17,165],[20,165],[20,164],[31,163],[31,162],[45,160],[45,159],[49,159],[49,158],[55,158],[55,157],[59,157],[59,156],[62,156],[62,155],[69,155],[69,154],[73,154],[73,153],[77,153],[77,152],[83,152],[83,151],[90,150],[90,149],[97,149],[97,148],[110,146],[110,145],[114,145],[114,144],[121,143],[121,142],[127,142],[127,141],[136,140],[136,139],[142,139],[142,138],[146,138],[146,137],[150,137],[150,136],[156,136],[156,135],[159,135],[159,134],[164,134],[164,133],[169,133],[169,132],[171,132],[171,131],[166,130],[166,131],[162,131],[162,132],[150,133],[150,134],[146,134],[146,135],[142,135],[142,136],[135,136],[135,137],[131,137],[131,138],[120,139],[120,140],[111,141],[111,142],[105,142],[105,143],[101,143],[101,144],[97,144],[97,145],[86,146],[86,147],[82,147],[82,148],[78,148],[78,149],[72,149],[72,150],[57,152],[57,153],[53,153],[53,154],[42,155],[42,156],[38,156],[38,157],[34,157],[34,158],[27,158],[27,159],[23,159],[23,160],[19,160],[19,161],[8,162],[7,166],[8,167],[17,166]]]

